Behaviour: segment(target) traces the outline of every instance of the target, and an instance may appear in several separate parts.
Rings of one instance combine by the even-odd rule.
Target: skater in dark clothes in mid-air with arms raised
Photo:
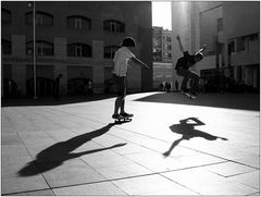
[[[175,67],[177,75],[184,77],[181,89],[183,94],[189,94],[191,98],[196,98],[199,88],[200,76],[196,72],[191,71],[190,67],[203,59],[202,51],[206,49],[206,46],[199,49],[195,54],[189,54],[188,51],[184,51],[179,36],[177,36],[176,39],[178,41],[179,50],[184,56],[177,60]],[[190,90],[187,89],[187,82],[189,78],[191,78]]]

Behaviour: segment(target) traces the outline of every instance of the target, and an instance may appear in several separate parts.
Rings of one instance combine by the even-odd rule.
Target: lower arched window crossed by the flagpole
[[[34,54],[34,42],[28,41],[26,44],[26,54]],[[36,56],[53,56],[53,45],[48,41],[36,41]]]

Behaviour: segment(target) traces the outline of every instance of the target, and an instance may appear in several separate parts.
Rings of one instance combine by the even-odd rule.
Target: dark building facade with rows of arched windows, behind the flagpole
[[[16,84],[22,96],[34,89],[34,25],[29,2],[1,2],[2,96]],[[110,85],[113,56],[124,37],[136,40],[134,53],[152,66],[151,2],[36,1],[35,44],[37,95],[52,94],[60,73],[62,95],[85,90],[92,81],[96,93]],[[152,73],[129,69],[129,89],[152,88]]]

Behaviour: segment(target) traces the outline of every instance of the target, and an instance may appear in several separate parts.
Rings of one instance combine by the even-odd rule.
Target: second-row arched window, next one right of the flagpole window
[[[91,47],[85,44],[67,45],[69,57],[91,57]]]

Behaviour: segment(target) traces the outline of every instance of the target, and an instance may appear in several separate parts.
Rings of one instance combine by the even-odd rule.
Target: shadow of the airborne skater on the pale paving
[[[163,156],[167,157],[171,155],[172,150],[182,141],[182,140],[189,140],[194,137],[202,137],[207,140],[216,140],[216,139],[223,139],[227,140],[227,138],[224,137],[217,137],[211,134],[208,134],[206,132],[201,132],[199,130],[195,130],[195,126],[204,125],[203,122],[198,120],[197,118],[188,118],[179,121],[179,124],[173,124],[170,126],[171,131],[181,134],[182,137],[179,139],[176,139],[170,149],[163,153]]]

